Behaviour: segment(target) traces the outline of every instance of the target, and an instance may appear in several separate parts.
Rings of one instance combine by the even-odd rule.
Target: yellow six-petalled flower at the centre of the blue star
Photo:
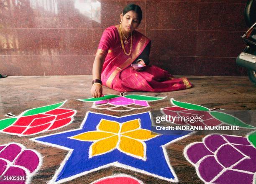
[[[97,130],[73,136],[79,141],[92,141],[89,158],[108,153],[114,149],[136,158],[146,160],[146,143],[152,135],[150,130],[141,128],[140,119],[118,123],[102,119]]]

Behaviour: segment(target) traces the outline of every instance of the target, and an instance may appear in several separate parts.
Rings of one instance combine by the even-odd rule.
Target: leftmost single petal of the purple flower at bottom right
[[[207,155],[212,155],[212,153],[205,147],[203,143],[193,144],[187,149],[187,156],[194,164]]]

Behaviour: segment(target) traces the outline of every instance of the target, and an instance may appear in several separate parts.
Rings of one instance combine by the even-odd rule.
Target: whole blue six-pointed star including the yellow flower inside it
[[[150,132],[150,112],[115,117],[87,112],[79,129],[31,140],[68,150],[51,180],[62,183],[108,166],[118,166],[167,181],[178,181],[169,164],[165,146],[189,131],[176,135]]]

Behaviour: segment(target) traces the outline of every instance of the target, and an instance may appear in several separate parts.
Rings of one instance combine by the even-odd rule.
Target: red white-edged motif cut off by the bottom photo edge
[[[143,184],[143,182],[134,178],[133,176],[126,174],[115,174],[113,176],[98,179],[91,184]]]

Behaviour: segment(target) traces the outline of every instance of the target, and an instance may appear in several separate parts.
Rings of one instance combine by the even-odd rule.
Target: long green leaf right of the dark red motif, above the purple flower
[[[256,127],[253,127],[251,125],[247,125],[246,123],[244,123],[243,121],[239,120],[238,118],[232,116],[232,115],[228,115],[226,113],[223,113],[223,112],[216,112],[216,111],[211,111],[210,114],[222,121],[223,123],[226,123],[228,125],[233,125],[233,126],[240,126],[240,127],[243,127],[243,128],[256,128]]]

